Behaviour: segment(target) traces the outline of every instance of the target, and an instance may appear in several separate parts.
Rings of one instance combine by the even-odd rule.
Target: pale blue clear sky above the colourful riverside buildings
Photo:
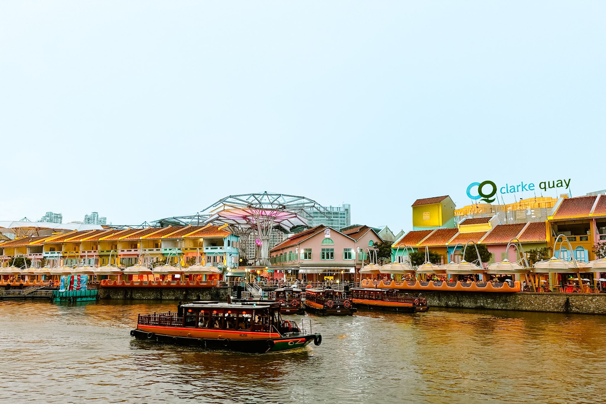
[[[0,2],[0,219],[606,188],[603,1]],[[489,187],[484,192],[490,191]],[[476,191],[472,188],[472,195]],[[498,194],[501,196],[501,194]]]

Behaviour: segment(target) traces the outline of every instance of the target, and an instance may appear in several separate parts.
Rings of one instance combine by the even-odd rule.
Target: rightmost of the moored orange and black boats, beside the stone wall
[[[382,308],[404,313],[424,313],[429,310],[425,297],[398,296],[393,289],[351,288],[349,296],[356,307]]]

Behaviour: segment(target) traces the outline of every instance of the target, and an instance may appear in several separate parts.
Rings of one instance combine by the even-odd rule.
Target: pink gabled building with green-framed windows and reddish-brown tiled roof
[[[359,280],[358,271],[368,262],[368,251],[373,250],[381,237],[364,225],[335,230],[319,225],[295,234],[270,250],[273,267],[291,268],[301,280],[321,282],[325,279],[353,282]]]

